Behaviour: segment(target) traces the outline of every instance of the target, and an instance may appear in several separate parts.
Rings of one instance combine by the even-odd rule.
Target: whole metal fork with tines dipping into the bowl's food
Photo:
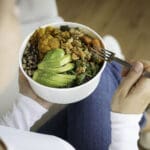
[[[123,65],[123,66],[125,66],[125,67],[127,67],[127,68],[129,68],[129,69],[132,67],[132,65],[129,64],[127,61],[122,60],[122,59],[116,57],[116,56],[115,56],[115,53],[113,53],[113,52],[111,52],[111,51],[109,51],[109,50],[107,50],[107,49],[102,48],[102,49],[100,49],[100,50],[98,51],[98,50],[96,50],[96,49],[94,49],[94,48],[91,48],[91,51],[95,52],[95,53],[96,53],[100,58],[102,58],[104,61],[107,61],[107,62],[116,61],[116,62],[118,62],[119,64],[121,64],[121,65]],[[143,73],[143,76],[150,78],[150,72],[145,71],[145,72]]]

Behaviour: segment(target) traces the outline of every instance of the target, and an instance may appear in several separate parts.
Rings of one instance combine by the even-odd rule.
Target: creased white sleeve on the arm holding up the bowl
[[[0,118],[0,125],[22,130],[30,130],[32,125],[47,112],[47,109],[29,97],[19,94],[11,111]]]

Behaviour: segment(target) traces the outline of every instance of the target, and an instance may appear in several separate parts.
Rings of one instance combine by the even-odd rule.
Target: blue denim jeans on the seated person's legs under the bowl
[[[98,87],[89,97],[70,104],[38,132],[61,137],[77,150],[108,150],[110,104],[121,80],[120,71],[117,63],[107,64]]]

